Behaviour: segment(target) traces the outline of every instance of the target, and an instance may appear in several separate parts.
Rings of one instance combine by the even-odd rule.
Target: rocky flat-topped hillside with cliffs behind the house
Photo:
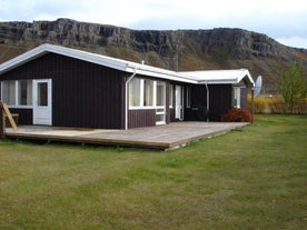
[[[44,42],[179,71],[247,68],[270,92],[293,61],[307,72],[306,49],[242,29],[131,30],[70,19],[0,22],[0,63]]]

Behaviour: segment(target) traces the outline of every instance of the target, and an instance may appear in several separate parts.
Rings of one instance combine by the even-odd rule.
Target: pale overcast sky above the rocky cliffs
[[[307,49],[307,0],[0,0],[0,21],[58,18],[141,30],[241,28]]]

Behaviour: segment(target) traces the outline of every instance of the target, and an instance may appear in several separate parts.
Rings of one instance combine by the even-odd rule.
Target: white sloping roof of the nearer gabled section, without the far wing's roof
[[[56,46],[56,44],[49,44],[49,43],[44,43],[37,48],[33,48],[0,64],[0,74],[16,67],[19,67],[23,63],[27,63],[36,58],[39,58],[48,52],[53,52],[57,54],[76,58],[79,60],[88,61],[91,63],[109,67],[112,69],[126,71],[126,72],[133,72],[136,69],[137,74],[145,74],[149,77],[162,78],[162,79],[188,82],[188,83],[197,83],[197,80],[195,80],[194,78],[182,76],[179,72],[175,72],[171,70],[165,70],[156,67],[150,67],[147,64],[126,61],[122,59],[116,59],[116,58],[111,58],[102,54],[91,53],[88,51],[82,51],[82,50],[77,50],[77,49],[66,48],[66,47]]]

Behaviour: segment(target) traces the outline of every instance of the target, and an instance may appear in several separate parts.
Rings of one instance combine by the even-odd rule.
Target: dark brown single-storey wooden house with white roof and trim
[[[48,43],[2,63],[0,82],[20,124],[101,129],[218,121],[254,84],[246,69],[175,72]]]

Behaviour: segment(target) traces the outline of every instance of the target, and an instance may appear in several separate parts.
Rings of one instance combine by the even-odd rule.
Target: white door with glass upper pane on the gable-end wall
[[[33,124],[52,124],[51,79],[33,80]]]

